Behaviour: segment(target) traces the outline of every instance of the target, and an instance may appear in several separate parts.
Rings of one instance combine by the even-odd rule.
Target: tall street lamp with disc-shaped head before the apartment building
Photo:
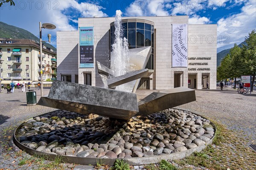
[[[47,29],[55,29],[56,26],[50,23],[44,23],[43,26],[41,25],[41,22],[39,22],[39,30],[40,30],[40,73],[41,73],[41,96],[43,94],[43,57],[42,57],[42,28],[47,28]],[[48,34],[48,42],[51,43],[51,34]],[[45,42],[45,41],[44,41]]]

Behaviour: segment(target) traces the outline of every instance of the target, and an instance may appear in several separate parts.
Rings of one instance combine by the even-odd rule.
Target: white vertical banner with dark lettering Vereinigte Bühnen
[[[187,37],[187,24],[172,24],[172,67],[187,67]]]

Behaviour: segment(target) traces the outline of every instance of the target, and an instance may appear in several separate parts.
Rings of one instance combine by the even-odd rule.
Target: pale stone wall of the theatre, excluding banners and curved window
[[[172,24],[188,24],[188,16],[123,17],[122,19],[148,20],[154,23],[154,69],[150,70],[153,74],[141,80],[147,84],[144,83],[143,86],[142,82],[140,88],[169,89],[184,86],[202,89],[206,88],[208,81],[209,88],[216,89],[217,25],[188,25],[188,67],[172,68]],[[91,85],[103,86],[96,61],[109,65],[110,24],[114,20],[114,17],[79,18],[79,27],[94,28],[93,68],[79,68],[79,31],[57,32],[58,79],[61,79],[59,74],[69,74],[72,75],[71,81],[75,82],[73,76],[78,75],[78,83],[87,84],[87,75],[90,74]],[[64,78],[62,80],[66,81]]]

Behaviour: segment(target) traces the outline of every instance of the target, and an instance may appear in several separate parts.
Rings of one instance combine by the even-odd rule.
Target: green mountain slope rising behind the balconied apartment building
[[[29,40],[34,40],[37,43],[39,43],[39,41],[40,41],[39,38],[36,37],[31,32],[26,31],[22,28],[8,25],[3,22],[0,22],[0,38],[29,39]],[[55,52],[57,51],[57,49],[54,46],[52,46],[46,42],[44,42],[44,45],[49,48],[52,48],[53,51],[55,51]]]

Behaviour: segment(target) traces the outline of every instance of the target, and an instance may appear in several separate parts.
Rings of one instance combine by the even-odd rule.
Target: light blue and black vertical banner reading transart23
[[[93,27],[79,28],[80,68],[93,68]]]

